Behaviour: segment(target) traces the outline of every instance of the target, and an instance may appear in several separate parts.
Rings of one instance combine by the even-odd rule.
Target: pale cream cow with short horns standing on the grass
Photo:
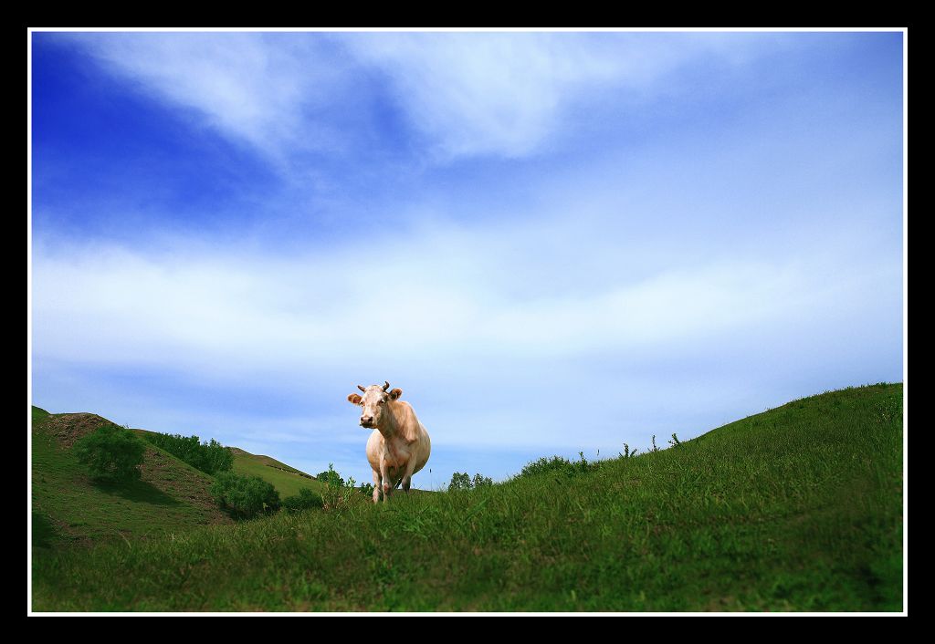
[[[367,461],[373,470],[373,502],[380,502],[382,492],[385,503],[400,483],[409,494],[412,475],[428,462],[432,441],[412,406],[399,400],[403,390],[397,387],[387,392],[390,383],[386,380],[382,386],[357,385],[357,389],[364,395],[350,394],[348,401],[362,408],[360,426],[373,430],[367,439]]]

